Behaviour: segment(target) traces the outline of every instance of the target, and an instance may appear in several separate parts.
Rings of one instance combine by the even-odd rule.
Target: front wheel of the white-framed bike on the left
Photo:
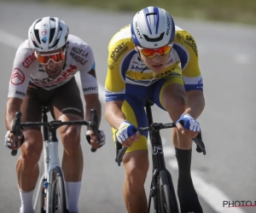
[[[66,203],[66,191],[61,168],[56,166],[52,171],[52,182],[50,184],[50,213],[68,213]]]

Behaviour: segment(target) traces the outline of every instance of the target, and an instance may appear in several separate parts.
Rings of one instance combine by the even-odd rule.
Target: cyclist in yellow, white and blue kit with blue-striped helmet
[[[113,127],[113,137],[128,147],[123,158],[127,211],[147,212],[143,185],[148,172],[148,133],[140,134],[137,128],[148,124],[144,104],[152,98],[177,124],[172,141],[181,212],[203,212],[190,175],[191,138],[200,131],[195,119],[205,107],[194,37],[175,26],[165,9],[147,7],[112,37],[108,53],[105,117]]]

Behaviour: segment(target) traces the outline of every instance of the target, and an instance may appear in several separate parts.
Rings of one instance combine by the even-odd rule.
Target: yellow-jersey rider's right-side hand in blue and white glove
[[[200,124],[189,114],[183,114],[176,122],[177,130],[189,138],[195,138],[200,131]]]

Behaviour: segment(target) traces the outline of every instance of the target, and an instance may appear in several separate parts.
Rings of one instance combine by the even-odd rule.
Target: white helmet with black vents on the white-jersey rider
[[[47,52],[59,49],[67,43],[68,26],[57,17],[35,20],[28,30],[28,40],[32,49]]]

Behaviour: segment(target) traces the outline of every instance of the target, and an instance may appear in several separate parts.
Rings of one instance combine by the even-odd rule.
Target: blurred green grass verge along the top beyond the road
[[[10,0],[9,0],[10,1]],[[15,1],[15,0],[11,0]],[[29,1],[29,0],[28,0]],[[172,16],[256,25],[256,0],[31,0],[67,3],[119,12],[137,12],[147,6],[166,9]],[[20,1],[19,1],[20,2]]]

